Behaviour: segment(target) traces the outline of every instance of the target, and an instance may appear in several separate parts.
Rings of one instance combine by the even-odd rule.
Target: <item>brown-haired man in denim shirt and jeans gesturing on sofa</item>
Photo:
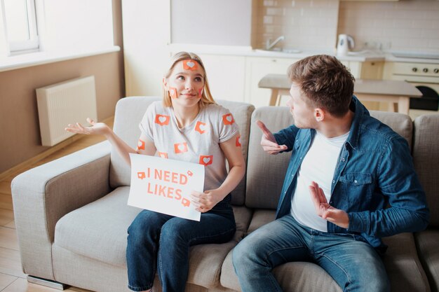
[[[344,291],[390,291],[381,237],[428,224],[407,141],[370,117],[353,96],[353,76],[335,57],[306,57],[288,76],[295,125],[272,134],[257,124],[264,151],[292,157],[276,220],[234,249],[241,288],[282,291],[273,267],[307,260]]]

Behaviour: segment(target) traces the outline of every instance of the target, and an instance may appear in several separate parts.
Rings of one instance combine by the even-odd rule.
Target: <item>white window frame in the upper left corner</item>
[[[38,26],[36,22],[35,0],[26,0],[27,27],[29,29],[29,39],[25,41],[8,40],[8,27],[6,24],[5,4],[4,4],[4,0],[0,0],[0,1],[1,1],[1,11],[2,11],[1,17],[3,18],[3,22],[4,22],[4,34],[6,36],[6,41],[8,42],[9,55],[39,50],[39,35],[38,35]]]

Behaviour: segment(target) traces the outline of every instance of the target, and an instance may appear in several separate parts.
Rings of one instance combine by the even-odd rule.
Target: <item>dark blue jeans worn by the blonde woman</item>
[[[201,214],[199,222],[141,211],[128,228],[128,288],[148,290],[157,270],[163,292],[184,291],[189,272],[189,246],[228,242],[235,230],[233,211],[224,200]]]

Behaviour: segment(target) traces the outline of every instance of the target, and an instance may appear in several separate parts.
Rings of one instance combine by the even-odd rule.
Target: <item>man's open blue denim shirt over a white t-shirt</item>
[[[426,196],[414,172],[407,141],[372,118],[355,96],[351,109],[355,116],[335,168],[330,199],[333,207],[348,214],[349,228],[327,221],[327,232],[361,235],[384,251],[381,237],[426,228]],[[292,151],[276,218],[290,213],[297,171],[314,134],[316,130],[295,125],[274,134],[279,145]]]

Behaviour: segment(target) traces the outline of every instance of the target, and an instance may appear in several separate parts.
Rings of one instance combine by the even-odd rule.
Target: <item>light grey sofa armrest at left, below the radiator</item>
[[[54,279],[55,224],[74,209],[109,193],[107,141],[29,169],[11,184],[23,271]]]

